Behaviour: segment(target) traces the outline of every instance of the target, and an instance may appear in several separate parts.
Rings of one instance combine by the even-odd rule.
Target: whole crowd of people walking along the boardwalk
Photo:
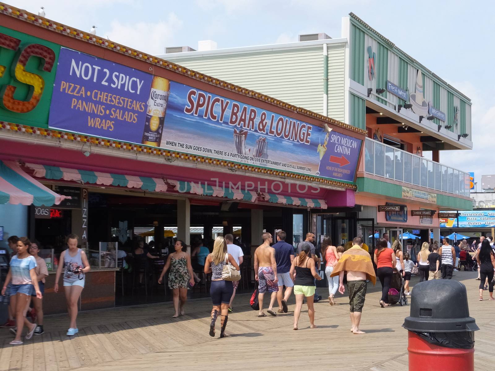
[[[424,242],[413,261],[411,254],[403,252],[400,241],[396,240],[392,245],[390,244],[386,233],[378,239],[376,249],[372,254],[373,258],[368,253],[367,246],[363,244],[361,237],[355,237],[352,240],[352,247],[347,251],[343,246],[334,246],[329,236],[323,236],[321,250],[317,250],[314,244],[315,235],[311,232],[306,234],[304,241],[298,243],[297,249],[285,241],[287,233],[284,231],[277,233],[275,243],[273,243],[272,233],[265,232],[261,237],[263,243],[254,252],[253,264],[254,278],[257,281],[258,317],[267,316],[263,310],[266,293],[270,294],[266,312],[269,316],[276,317],[277,314],[288,312],[287,303],[294,292],[296,299],[294,330],[299,328],[298,322],[304,303],[307,304],[310,328],[317,327],[314,303],[321,299],[316,292],[316,281],[322,279],[319,274],[321,260],[323,260],[324,273],[328,279],[330,306],[336,303],[337,291],[344,294],[346,274],[351,332],[362,334],[364,332],[359,325],[367,282],[371,281],[375,285],[378,277],[382,285],[379,305],[385,308],[394,304],[389,302],[389,292],[394,275],[399,275],[403,292],[407,296],[410,295],[409,281],[413,273],[419,274],[420,282],[429,279],[451,279],[459,260],[467,261],[468,255],[471,258],[468,253],[470,247],[465,240],[459,243],[459,246],[457,244],[452,246],[448,238],[443,238],[442,246],[439,246],[438,242],[432,244]],[[27,237],[11,236],[8,243],[13,252],[1,294],[8,297],[10,301],[9,320],[2,327],[10,327],[10,331],[15,335],[10,344],[16,345],[23,343],[24,327],[27,328],[26,339],[44,333],[43,294],[48,270],[44,259],[38,255],[40,246],[37,241],[30,241]],[[67,248],[59,257],[53,288],[55,293],[59,291],[59,280],[62,276],[70,319],[68,336],[78,332],[77,303],[85,285],[85,274],[90,271],[86,253],[77,246],[78,237],[74,234],[68,235]],[[490,293],[489,300],[495,300],[493,296],[494,248],[489,238],[482,237],[475,249],[473,261],[478,266],[480,300],[483,300],[483,291],[487,289]],[[211,250],[204,246],[202,241],[196,241],[189,254],[182,240],[175,241],[173,250],[167,255],[166,263],[158,278],[158,283],[162,283],[168,272],[167,284],[172,290],[174,307],[172,317],[177,318],[185,314],[187,290],[194,287],[200,280],[198,273],[204,273],[204,277],[211,274],[209,293],[212,310],[209,335],[215,336],[215,324],[220,316],[220,337],[226,337],[225,330],[229,313],[234,311],[233,301],[240,279],[240,265],[244,262],[242,247],[234,244],[232,234],[226,234],[225,237],[216,237]],[[138,240],[132,255],[137,261],[140,259],[148,261],[158,257],[148,251],[142,240]],[[376,274],[373,262],[376,266]],[[233,275],[232,272],[238,273]],[[139,277],[141,281],[141,273]],[[276,303],[278,304],[277,311],[274,310]],[[31,322],[27,319],[28,315],[32,318]]]

